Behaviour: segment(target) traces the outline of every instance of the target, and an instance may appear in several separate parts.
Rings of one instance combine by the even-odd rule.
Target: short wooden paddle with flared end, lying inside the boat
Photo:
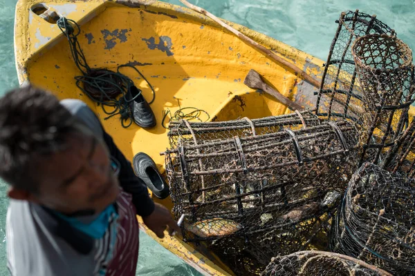
[[[265,83],[265,81],[262,79],[261,75],[253,69],[251,69],[248,72],[248,75],[246,75],[245,80],[243,81],[246,86],[252,89],[261,89],[264,92],[267,92],[269,95],[272,95],[277,99],[279,102],[284,103],[284,105],[288,106],[291,110],[304,110],[302,106],[300,106],[295,101],[291,101],[291,99],[288,99],[284,95],[282,95],[279,91],[276,89],[268,86],[268,84]]]

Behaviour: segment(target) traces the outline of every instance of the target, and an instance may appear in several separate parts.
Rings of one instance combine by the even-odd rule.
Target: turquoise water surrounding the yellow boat
[[[17,86],[13,57],[13,21],[16,0],[0,0],[0,95]],[[180,4],[178,0],[167,1]],[[193,0],[218,17],[263,32],[325,60],[342,10],[377,14],[415,49],[415,0]],[[0,181],[0,275],[6,268],[5,221],[8,200]],[[181,259],[140,233],[137,275],[199,275]]]

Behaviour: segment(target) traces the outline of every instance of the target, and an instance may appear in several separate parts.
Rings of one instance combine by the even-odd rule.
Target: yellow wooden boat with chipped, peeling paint
[[[84,55],[93,68],[116,70],[120,64],[136,66],[156,90],[151,104],[158,124],[146,130],[138,126],[122,128],[119,117],[107,115],[75,84],[80,71],[75,66],[66,37],[59,30],[59,16],[76,21]],[[60,99],[85,101],[102,119],[128,159],[145,151],[161,171],[164,157],[159,152],[169,146],[167,130],[161,126],[163,110],[192,106],[205,110],[210,119],[251,119],[282,115],[290,111],[270,95],[243,84],[255,69],[283,95],[312,108],[317,88],[299,79],[239,37],[197,12],[155,0],[19,0],[15,20],[15,59],[19,83],[34,83],[55,92]],[[264,34],[227,22],[276,55],[321,79],[324,61]],[[333,30],[334,31],[334,30]],[[146,99],[151,90],[136,72],[122,71],[140,87]],[[172,208],[167,198],[155,201]],[[232,275],[232,270],[203,245],[187,244],[178,237],[158,239],[143,230],[205,275]]]

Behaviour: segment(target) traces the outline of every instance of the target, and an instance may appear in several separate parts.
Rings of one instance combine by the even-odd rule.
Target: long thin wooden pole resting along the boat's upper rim
[[[221,25],[223,28],[225,28],[226,30],[229,30],[230,32],[233,32],[240,39],[242,39],[246,43],[250,44],[254,48],[257,48],[257,50],[263,52],[265,55],[267,55],[271,59],[274,59],[275,61],[277,61],[277,63],[282,64],[286,68],[290,68],[291,70],[293,70],[295,72],[295,75],[301,77],[302,79],[304,79],[304,81],[307,81],[308,83],[311,83],[311,85],[315,86],[316,88],[320,88],[320,81],[317,81],[316,79],[314,79],[313,77],[308,75],[306,72],[304,72],[303,70],[301,70],[300,68],[295,66],[293,63],[290,63],[290,62],[286,61],[285,59],[283,59],[282,57],[279,57],[279,56],[275,55],[275,53],[272,52],[271,50],[265,48],[264,46],[257,43],[256,41],[250,39],[245,34],[239,32],[238,30],[235,30],[234,28],[232,28],[228,24],[224,23],[223,21],[221,21],[221,19],[216,17],[214,14],[211,14],[207,10],[203,10],[203,8],[200,8],[198,6],[194,6],[192,3],[189,3],[186,0],[180,0],[180,1],[183,4],[185,4],[185,6],[191,8],[192,10],[194,10],[196,12],[200,12],[201,14],[205,14],[207,17],[210,17],[210,19],[214,20],[216,23],[219,23],[219,25]]]

